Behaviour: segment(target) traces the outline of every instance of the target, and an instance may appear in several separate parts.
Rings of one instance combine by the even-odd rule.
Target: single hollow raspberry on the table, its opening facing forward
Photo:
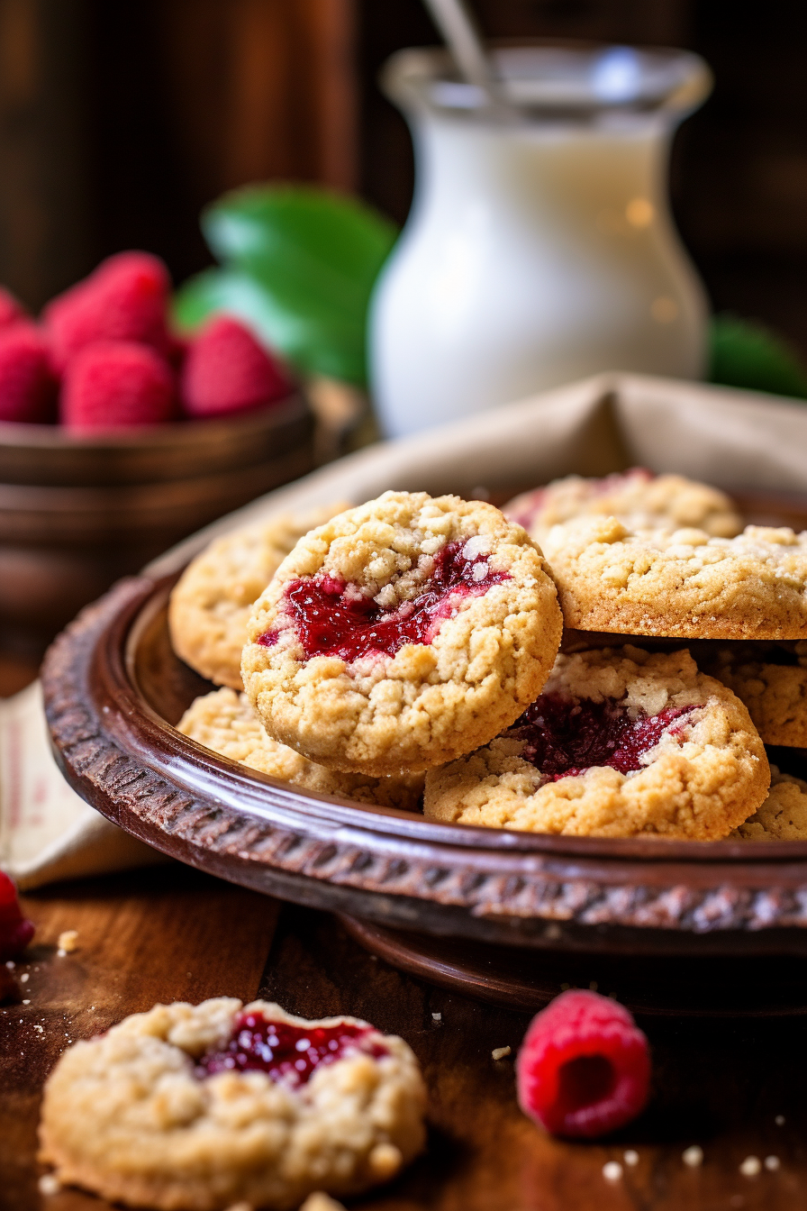
[[[530,1022],[515,1072],[521,1109],[547,1131],[600,1136],[644,1109],[650,1049],[617,1001],[564,992]]]

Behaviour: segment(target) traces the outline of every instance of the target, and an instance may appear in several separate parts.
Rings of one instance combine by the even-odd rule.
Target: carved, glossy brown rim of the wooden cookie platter
[[[42,667],[68,780],[163,853],[298,902],[521,946],[586,948],[604,926],[615,946],[634,949],[638,932],[647,943],[652,935],[653,949],[691,947],[696,935],[716,942],[725,931],[743,931],[748,943],[749,932],[783,928],[796,942],[792,928],[807,926],[807,843],[442,825],[300,792],[217,757],[161,719],[127,667],[127,643],[172,582],[121,581],[56,639]]]

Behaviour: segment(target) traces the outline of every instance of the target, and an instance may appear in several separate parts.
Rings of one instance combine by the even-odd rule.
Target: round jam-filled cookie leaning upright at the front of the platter
[[[255,603],[242,676],[267,733],[330,769],[425,770],[541,690],[555,587],[492,505],[386,492],[302,538]]]

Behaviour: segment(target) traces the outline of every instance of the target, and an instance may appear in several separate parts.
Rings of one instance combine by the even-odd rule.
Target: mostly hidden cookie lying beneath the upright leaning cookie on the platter
[[[236,694],[229,687],[191,702],[177,730],[221,757],[319,794],[339,794],[379,808],[416,811],[423,790],[422,774],[371,777],[367,774],[340,774],[317,765],[294,748],[271,740],[247,695]]]

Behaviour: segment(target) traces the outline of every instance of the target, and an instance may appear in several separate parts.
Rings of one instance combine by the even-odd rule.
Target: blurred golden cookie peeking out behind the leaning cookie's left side
[[[247,619],[296,541],[347,504],[284,513],[218,538],[189,563],[168,606],[174,652],[215,685],[243,689]]]

